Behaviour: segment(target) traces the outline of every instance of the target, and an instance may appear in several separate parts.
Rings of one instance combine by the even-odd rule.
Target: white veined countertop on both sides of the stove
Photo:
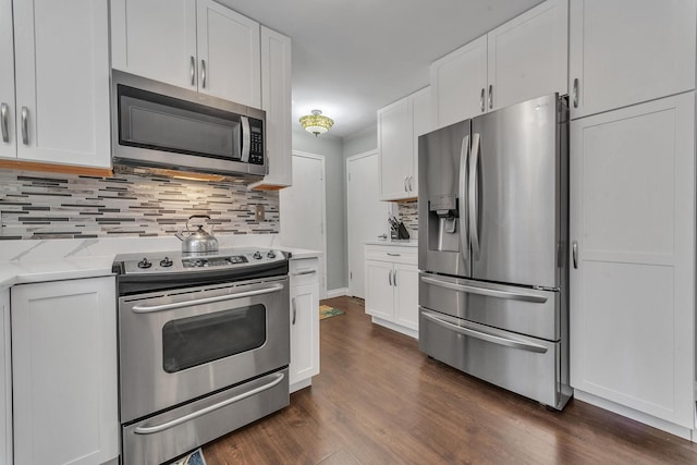
[[[291,253],[291,259],[321,256],[319,250],[284,247],[277,237],[259,235],[257,240],[221,241],[222,246],[249,246],[276,248]],[[244,242],[242,244],[242,242]],[[139,250],[171,250],[180,247],[178,240],[149,237],[131,240],[54,240],[54,241],[3,241],[0,242],[0,289],[14,284],[59,281],[80,278],[96,278],[112,274],[113,258],[122,253]]]

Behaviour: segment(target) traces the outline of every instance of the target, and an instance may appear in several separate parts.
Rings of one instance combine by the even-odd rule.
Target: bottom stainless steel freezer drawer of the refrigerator
[[[419,307],[418,347],[468,375],[561,409],[561,343],[497,330]]]

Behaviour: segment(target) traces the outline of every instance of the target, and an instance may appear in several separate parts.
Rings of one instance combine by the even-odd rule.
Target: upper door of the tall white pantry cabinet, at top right
[[[694,89],[696,8],[684,0],[572,0],[572,118]]]

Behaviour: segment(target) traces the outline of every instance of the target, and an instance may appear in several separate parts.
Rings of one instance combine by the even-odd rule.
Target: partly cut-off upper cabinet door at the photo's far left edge
[[[14,132],[14,39],[12,37],[12,0],[0,0],[0,157],[15,158]]]

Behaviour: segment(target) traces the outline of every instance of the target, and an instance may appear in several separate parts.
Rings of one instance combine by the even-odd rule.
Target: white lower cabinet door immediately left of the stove
[[[113,278],[12,287],[14,462],[119,455]]]

